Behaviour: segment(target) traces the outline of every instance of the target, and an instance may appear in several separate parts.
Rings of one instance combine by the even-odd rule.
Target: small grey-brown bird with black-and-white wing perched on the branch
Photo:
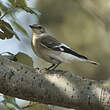
[[[47,70],[55,70],[61,63],[73,61],[98,65],[86,56],[80,55],[64,43],[56,40],[47,29],[40,24],[29,25],[32,30],[32,49],[34,53],[52,65]]]

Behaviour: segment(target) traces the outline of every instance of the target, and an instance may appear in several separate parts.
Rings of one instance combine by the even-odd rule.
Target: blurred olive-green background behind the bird
[[[104,0],[38,0],[39,23],[59,41],[76,52],[99,62],[99,66],[74,62],[61,64],[59,69],[91,79],[110,77],[109,26],[110,9]],[[105,9],[104,9],[105,8]],[[104,15],[105,14],[105,15]],[[44,61],[40,65],[46,66]]]

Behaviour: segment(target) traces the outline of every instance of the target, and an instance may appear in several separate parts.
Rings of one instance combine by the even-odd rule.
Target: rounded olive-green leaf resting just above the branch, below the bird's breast
[[[15,57],[17,59],[17,62],[20,62],[28,66],[33,66],[32,58],[29,57],[28,55],[19,52],[18,54],[15,55]]]

